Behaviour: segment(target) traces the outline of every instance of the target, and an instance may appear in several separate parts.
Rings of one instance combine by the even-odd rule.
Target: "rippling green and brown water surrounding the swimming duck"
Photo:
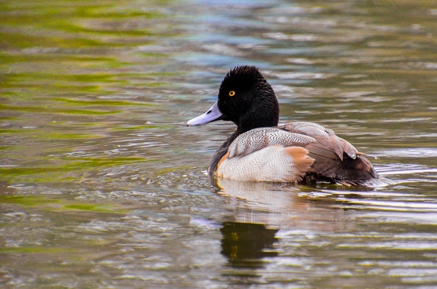
[[[435,1],[0,5],[2,287],[437,287]],[[210,185],[241,64],[386,179]]]

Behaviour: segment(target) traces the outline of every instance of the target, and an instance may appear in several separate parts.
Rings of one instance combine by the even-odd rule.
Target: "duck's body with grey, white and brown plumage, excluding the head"
[[[311,122],[233,135],[217,150],[208,171],[222,178],[301,183],[361,184],[377,177],[349,142]]]

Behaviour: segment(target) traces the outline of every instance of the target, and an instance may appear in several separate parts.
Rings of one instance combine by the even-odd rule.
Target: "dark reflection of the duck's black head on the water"
[[[220,229],[221,254],[233,267],[261,267],[260,259],[278,255],[272,250],[277,231],[263,224],[224,222]]]

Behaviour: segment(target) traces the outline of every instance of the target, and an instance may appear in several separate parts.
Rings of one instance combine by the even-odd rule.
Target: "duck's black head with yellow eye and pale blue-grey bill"
[[[200,125],[218,119],[237,124],[239,133],[278,124],[278,101],[272,86],[258,68],[237,66],[231,69],[221,82],[217,102],[187,124]]]

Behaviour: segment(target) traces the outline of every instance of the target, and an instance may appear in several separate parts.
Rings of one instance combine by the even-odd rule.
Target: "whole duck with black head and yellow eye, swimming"
[[[219,86],[217,101],[186,124],[217,120],[232,121],[237,129],[208,164],[214,179],[357,186],[379,177],[366,158],[373,156],[358,152],[333,130],[307,121],[278,125],[278,100],[255,66],[231,69]]]

